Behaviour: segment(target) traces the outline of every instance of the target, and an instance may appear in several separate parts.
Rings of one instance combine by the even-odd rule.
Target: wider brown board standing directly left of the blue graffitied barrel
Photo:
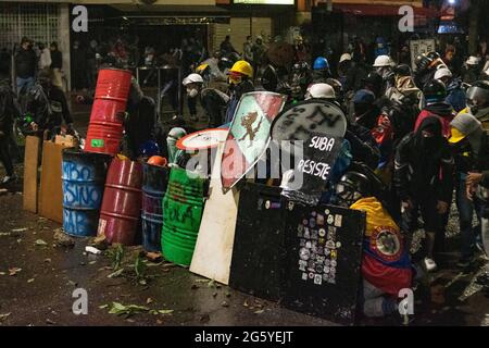
[[[63,188],[61,182],[62,150],[65,146],[45,141],[39,189],[39,215],[63,222]]]

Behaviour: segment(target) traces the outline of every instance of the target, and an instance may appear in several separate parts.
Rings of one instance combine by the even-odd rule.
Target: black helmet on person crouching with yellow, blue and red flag
[[[341,207],[351,207],[359,199],[373,195],[371,181],[359,172],[348,172],[341,176],[335,187],[336,202]]]

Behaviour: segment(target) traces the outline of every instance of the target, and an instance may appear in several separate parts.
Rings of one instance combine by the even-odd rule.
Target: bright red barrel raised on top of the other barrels
[[[112,156],[118,152],[130,78],[131,74],[126,70],[100,70],[85,151]]]

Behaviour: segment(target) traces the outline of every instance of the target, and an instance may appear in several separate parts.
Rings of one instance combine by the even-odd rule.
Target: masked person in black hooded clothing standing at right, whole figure
[[[434,260],[435,236],[440,216],[452,200],[453,158],[442,134],[440,117],[425,117],[415,132],[406,135],[396,152],[394,185],[402,201],[401,229],[411,248],[412,235],[421,211],[426,233],[424,265],[437,269]]]

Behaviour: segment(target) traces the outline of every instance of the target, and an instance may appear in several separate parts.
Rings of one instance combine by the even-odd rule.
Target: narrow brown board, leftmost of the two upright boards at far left
[[[24,210],[37,213],[37,167],[39,165],[40,139],[27,136],[25,139],[24,154]]]

